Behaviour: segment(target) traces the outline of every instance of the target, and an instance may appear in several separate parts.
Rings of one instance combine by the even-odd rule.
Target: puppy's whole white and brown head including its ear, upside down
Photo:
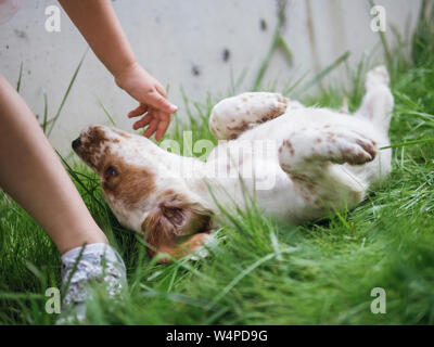
[[[210,211],[181,178],[163,175],[173,159],[167,152],[143,137],[106,126],[87,127],[72,145],[100,177],[119,222],[144,234],[151,255],[178,257],[203,245]]]

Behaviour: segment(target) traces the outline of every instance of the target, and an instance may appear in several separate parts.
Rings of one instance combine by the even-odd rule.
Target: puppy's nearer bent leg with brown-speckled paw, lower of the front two
[[[361,165],[376,154],[375,142],[339,126],[291,133],[279,147],[279,164],[290,176],[305,206],[341,209],[360,203],[367,183],[337,165]]]

